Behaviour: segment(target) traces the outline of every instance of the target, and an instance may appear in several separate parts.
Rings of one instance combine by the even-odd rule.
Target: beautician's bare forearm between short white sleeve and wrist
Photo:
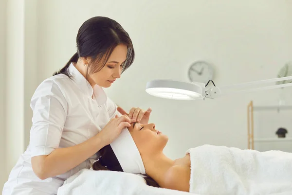
[[[100,134],[97,134],[78,145],[55,149],[51,154],[45,156],[40,164],[36,165],[37,168],[34,171],[41,179],[55,177],[78,166],[104,146]]]

